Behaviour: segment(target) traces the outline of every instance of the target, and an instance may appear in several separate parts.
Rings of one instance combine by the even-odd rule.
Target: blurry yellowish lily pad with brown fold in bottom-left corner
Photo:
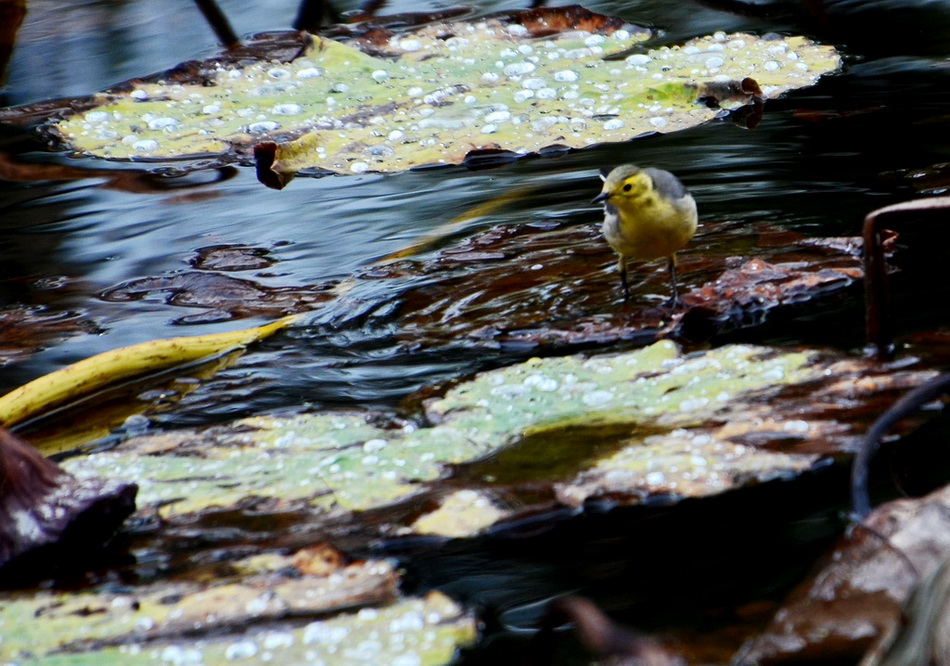
[[[0,654],[19,661],[65,652],[70,663],[89,664],[444,664],[474,640],[474,620],[444,595],[400,597],[387,562],[338,561],[318,573],[298,562],[279,555],[239,561],[235,570],[254,573],[218,577],[207,587],[158,584],[5,599]],[[290,619],[298,621],[278,624]]]

